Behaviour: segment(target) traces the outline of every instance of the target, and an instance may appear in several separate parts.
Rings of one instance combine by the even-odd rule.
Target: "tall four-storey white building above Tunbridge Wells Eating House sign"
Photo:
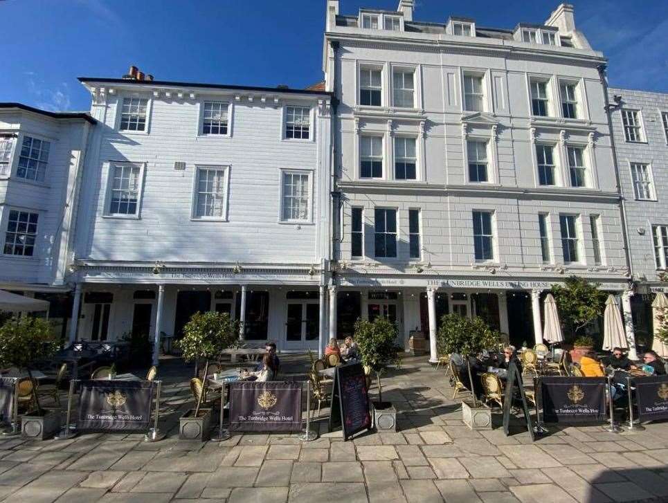
[[[328,2],[323,51],[340,101],[330,336],[383,315],[406,347],[431,336],[435,360],[444,313],[533,344],[568,275],[626,290],[606,60],[572,6],[514,30],[415,21],[412,0],[340,8]]]

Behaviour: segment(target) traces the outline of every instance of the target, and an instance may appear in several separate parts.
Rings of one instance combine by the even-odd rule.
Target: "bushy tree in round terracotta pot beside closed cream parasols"
[[[598,289],[599,284],[581,277],[570,276],[565,283],[552,286],[551,292],[557,302],[566,343],[579,347],[570,351],[572,360],[579,362],[584,348],[592,349],[595,344],[593,338],[581,336],[585,336],[585,327],[602,315],[606,295]]]

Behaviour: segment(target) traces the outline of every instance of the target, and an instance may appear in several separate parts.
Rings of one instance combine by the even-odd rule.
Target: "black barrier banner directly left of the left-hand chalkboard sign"
[[[230,431],[302,429],[302,383],[230,383]]]

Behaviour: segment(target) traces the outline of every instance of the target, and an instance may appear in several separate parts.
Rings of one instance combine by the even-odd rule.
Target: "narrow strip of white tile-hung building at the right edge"
[[[636,338],[652,345],[651,304],[668,292],[668,94],[608,89],[615,153],[624,198]]]

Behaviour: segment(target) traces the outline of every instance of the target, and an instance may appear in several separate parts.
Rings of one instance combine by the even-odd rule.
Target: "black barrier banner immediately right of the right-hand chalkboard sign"
[[[541,377],[543,421],[605,421],[605,390],[604,377]]]

